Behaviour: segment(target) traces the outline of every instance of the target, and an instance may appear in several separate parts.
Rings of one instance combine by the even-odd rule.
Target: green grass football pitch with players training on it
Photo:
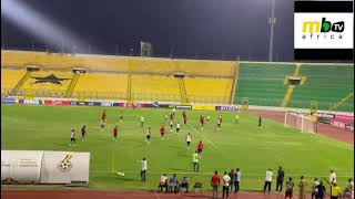
[[[335,139],[300,130],[284,128],[283,124],[264,118],[263,128],[257,128],[258,118],[240,114],[240,124],[234,123],[234,113],[214,111],[186,111],[189,122],[183,125],[182,111],[175,117],[181,121],[179,135],[165,134],[160,138],[159,127],[169,109],[122,109],[106,107],[108,125],[100,130],[100,117],[104,107],[83,106],[30,106],[1,105],[1,149],[90,151],[90,189],[156,189],[159,178],[166,172],[176,172],[179,178],[187,176],[191,182],[202,181],[210,189],[214,170],[220,174],[240,167],[242,190],[262,190],[265,171],[272,168],[275,177],[281,165],[285,177],[298,182],[304,175],[310,185],[314,177],[327,177],[335,169],[337,181],[344,188],[348,177],[354,176],[354,147]],[[211,115],[212,121],[200,128],[199,116]],[[145,117],[144,128],[140,116]],[[223,116],[221,130],[216,130],[216,118]],[[119,140],[112,140],[112,128],[119,125]],[[88,126],[87,142],[79,138],[80,127]],[[145,144],[145,129],[152,127],[151,144]],[[77,129],[77,147],[70,147],[70,130]],[[166,129],[168,125],[166,125]],[[186,148],[185,135],[192,134],[192,147]],[[197,142],[205,148],[200,172],[192,171],[192,154]],[[148,181],[140,181],[141,165],[148,158]],[[124,171],[125,176],[116,175]],[[274,179],[275,179],[274,177]],[[10,189],[13,186],[2,186]],[[38,189],[43,186],[23,186]],[[44,187],[62,189],[61,186]],[[272,185],[275,189],[275,182]]]

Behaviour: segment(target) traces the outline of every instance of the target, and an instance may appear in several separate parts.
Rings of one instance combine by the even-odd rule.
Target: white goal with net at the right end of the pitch
[[[316,123],[303,113],[285,112],[284,126],[298,128],[302,133],[316,133]]]

